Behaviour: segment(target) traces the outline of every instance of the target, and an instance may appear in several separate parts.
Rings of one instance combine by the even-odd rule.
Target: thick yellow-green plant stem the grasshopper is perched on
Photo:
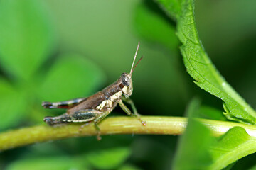
[[[106,118],[100,123],[101,135],[113,134],[150,134],[150,135],[181,135],[186,128],[187,118],[171,116],[142,116],[146,121],[143,126],[136,118],[129,116],[118,116]],[[241,126],[249,135],[256,137],[255,125],[244,125],[241,123],[223,122],[218,120],[198,119],[212,131],[214,136],[223,135],[230,128]],[[0,150],[11,149],[30,145],[36,142],[59,140],[69,137],[83,137],[96,135],[96,130],[91,123],[80,131],[82,124],[74,123],[58,127],[48,125],[37,125],[30,128],[11,130],[0,134]]]

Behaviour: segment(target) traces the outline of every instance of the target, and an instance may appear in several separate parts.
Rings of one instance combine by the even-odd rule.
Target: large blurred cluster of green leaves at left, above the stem
[[[0,130],[34,119],[41,112],[38,102],[89,95],[105,81],[102,71],[90,60],[75,54],[55,57],[45,63],[53,49],[53,28],[39,1],[0,2],[1,78]],[[48,66],[46,66],[48,64]],[[84,86],[86,84],[86,86]],[[34,119],[39,120],[40,118]]]

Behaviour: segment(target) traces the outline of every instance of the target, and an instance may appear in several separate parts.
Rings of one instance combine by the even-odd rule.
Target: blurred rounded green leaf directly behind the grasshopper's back
[[[104,74],[90,60],[62,55],[43,79],[39,93],[46,101],[65,101],[92,94],[104,81]]]

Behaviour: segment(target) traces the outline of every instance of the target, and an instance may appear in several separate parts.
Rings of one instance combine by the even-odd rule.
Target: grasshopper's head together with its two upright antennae
[[[137,46],[137,50],[135,52],[135,56],[134,56],[134,60],[132,62],[132,68],[131,71],[129,73],[122,73],[120,80],[121,80],[121,84],[120,87],[122,89],[122,93],[124,95],[127,96],[131,96],[132,95],[132,91],[133,91],[133,86],[132,86],[132,73],[134,72],[135,67],[137,67],[137,64],[139,64],[140,60],[142,60],[143,57],[141,57],[139,59],[139,61],[137,62],[137,64],[134,66],[134,62],[136,60],[136,56],[137,56],[137,52],[139,50],[139,43]],[[133,67],[134,66],[134,67]]]

